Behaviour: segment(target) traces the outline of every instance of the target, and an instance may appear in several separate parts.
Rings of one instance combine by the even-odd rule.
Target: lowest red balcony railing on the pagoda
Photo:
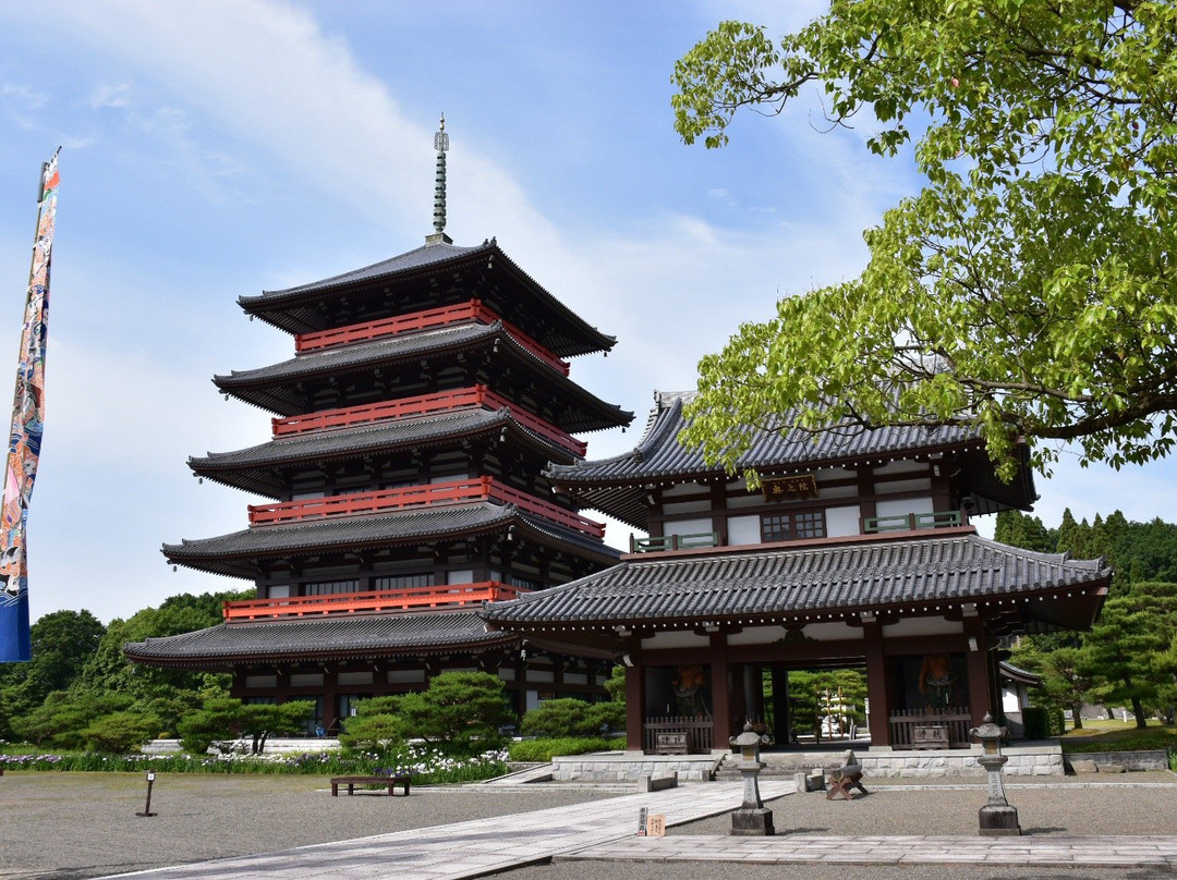
[[[274,599],[245,599],[225,602],[226,624],[274,620],[278,618],[321,618],[388,612],[440,611],[483,602],[516,599],[530,591],[488,580],[478,584],[448,584],[406,589],[374,589],[359,593],[332,593]]]

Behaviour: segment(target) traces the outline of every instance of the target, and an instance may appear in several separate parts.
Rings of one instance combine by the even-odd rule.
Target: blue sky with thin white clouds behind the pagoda
[[[652,392],[692,387],[698,359],[742,321],[858,274],[863,229],[919,182],[910,158],[866,152],[869,121],[823,133],[810,100],[745,114],[723,151],[686,147],[672,127],[674,60],[709,28],[737,18],[780,33],[819,6],[0,6],[0,367],[8,326],[15,369],[36,173],[62,146],[33,619],[87,608],[109,621],[246,586],[173,573],[159,552],[245,527],[255,500],[198,485],[186,465],[268,434],[268,414],[224,401],[211,378],[293,344],[237,298],[420,245],[441,112],[447,233],[497,236],[618,336],[607,359],[573,362],[638,413],[626,434],[588,435],[591,458],[631,448]],[[1039,478],[1037,512],[1048,525],[1065,506],[1171,520],[1175,482],[1165,462],[1117,474],[1064,461]],[[609,540],[626,532],[614,524]]]

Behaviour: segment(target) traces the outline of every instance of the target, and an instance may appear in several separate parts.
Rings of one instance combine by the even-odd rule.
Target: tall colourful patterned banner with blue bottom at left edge
[[[0,512],[0,662],[32,656],[28,634],[28,499],[36,479],[45,424],[45,341],[49,308],[49,256],[58,208],[58,156],[41,168],[40,213],[20,334],[16,393]]]

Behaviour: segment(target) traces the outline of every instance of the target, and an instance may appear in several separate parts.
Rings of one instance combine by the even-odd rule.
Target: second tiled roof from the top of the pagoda
[[[281,415],[297,415],[308,409],[305,393],[297,386],[307,379],[326,381],[348,373],[370,372],[379,367],[397,366],[423,356],[458,355],[491,349],[496,358],[508,358],[500,369],[520,366],[545,392],[565,405],[566,415],[558,427],[570,432],[600,431],[629,425],[633,413],[587,392],[571,379],[539,361],[503,329],[501,321],[493,324],[460,324],[423,333],[410,333],[392,339],[375,340],[341,348],[308,352],[297,358],[257,369],[233,371],[213,376],[213,382],[226,394],[254,404]]]

